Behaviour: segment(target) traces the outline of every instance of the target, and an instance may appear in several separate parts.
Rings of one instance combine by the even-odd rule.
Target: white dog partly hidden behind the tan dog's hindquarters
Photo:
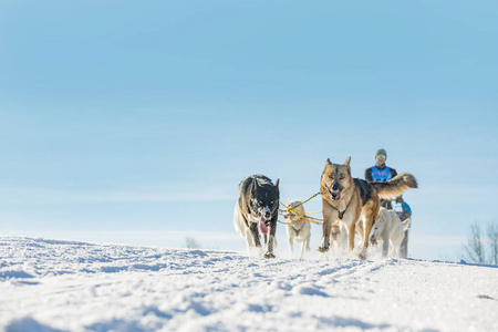
[[[409,218],[401,221],[395,211],[381,207],[381,217],[372,228],[370,242],[376,246],[377,239],[382,240],[382,256],[386,257],[387,248],[390,248],[390,256],[400,258],[401,243],[408,227]]]

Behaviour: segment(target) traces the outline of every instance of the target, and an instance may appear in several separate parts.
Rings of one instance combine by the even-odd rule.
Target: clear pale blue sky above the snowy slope
[[[497,222],[496,1],[2,1],[0,235],[242,250],[240,180],[416,176],[411,255]],[[320,198],[305,206],[321,209]],[[278,236],[287,249],[284,228]],[[318,247],[321,228],[312,228]]]

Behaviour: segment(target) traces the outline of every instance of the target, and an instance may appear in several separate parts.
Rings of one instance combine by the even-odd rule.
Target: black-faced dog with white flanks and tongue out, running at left
[[[273,185],[268,177],[258,174],[246,177],[239,185],[235,229],[246,238],[249,250],[255,247],[261,249],[261,231],[264,235],[264,258],[274,258],[279,199],[279,179]]]

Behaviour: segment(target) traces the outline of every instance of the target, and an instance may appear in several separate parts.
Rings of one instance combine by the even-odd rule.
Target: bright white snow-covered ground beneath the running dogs
[[[498,268],[0,238],[4,331],[498,331]]]

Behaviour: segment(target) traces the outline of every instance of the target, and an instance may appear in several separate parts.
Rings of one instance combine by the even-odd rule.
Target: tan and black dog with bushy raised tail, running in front
[[[347,231],[347,247],[354,249],[354,234],[356,222],[363,218],[363,243],[360,258],[365,259],[369,247],[369,235],[378,218],[380,198],[400,196],[408,188],[417,188],[417,180],[408,173],[400,174],[385,183],[367,183],[353,178],[350,167],[351,157],[342,164],[332,164],[326,159],[325,168],[320,181],[322,193],[322,245],[318,251],[325,252],[330,249],[330,236],[332,225],[335,221],[344,224]]]

